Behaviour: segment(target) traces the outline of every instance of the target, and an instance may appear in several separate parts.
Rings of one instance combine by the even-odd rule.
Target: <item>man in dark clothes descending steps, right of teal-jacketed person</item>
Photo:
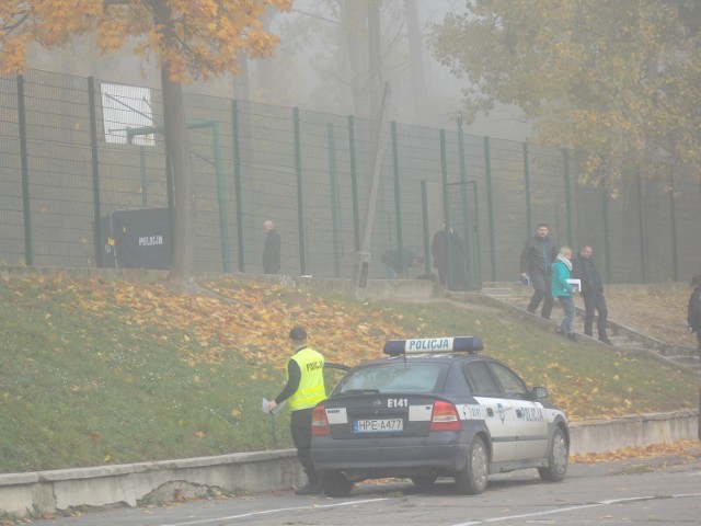
[[[591,261],[594,249],[590,244],[582,247],[573,262],[574,270],[572,277],[582,281],[579,295],[584,298],[584,333],[587,336],[594,335],[594,315],[598,312],[596,329],[599,342],[611,345],[611,341],[606,334],[606,320],[608,319],[609,311],[606,308],[604,284],[601,283],[599,271],[597,271]]]

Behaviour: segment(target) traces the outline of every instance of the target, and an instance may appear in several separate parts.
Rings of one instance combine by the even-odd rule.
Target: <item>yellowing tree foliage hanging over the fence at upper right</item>
[[[474,0],[461,11],[432,43],[466,79],[469,118],[518,106],[539,141],[577,152],[582,183],[699,173],[698,1]]]

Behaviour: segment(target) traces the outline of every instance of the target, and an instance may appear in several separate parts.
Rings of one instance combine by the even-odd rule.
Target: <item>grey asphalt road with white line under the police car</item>
[[[685,457],[571,465],[561,483],[536,470],[497,474],[478,496],[441,479],[418,491],[409,481],[364,483],[349,498],[291,491],[35,519],[37,526],[227,526],[367,524],[389,526],[701,524],[701,448]]]

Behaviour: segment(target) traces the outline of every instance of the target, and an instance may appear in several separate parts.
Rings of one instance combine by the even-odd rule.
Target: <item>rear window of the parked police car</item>
[[[334,389],[334,395],[349,392],[433,392],[445,364],[393,363],[352,370]]]

